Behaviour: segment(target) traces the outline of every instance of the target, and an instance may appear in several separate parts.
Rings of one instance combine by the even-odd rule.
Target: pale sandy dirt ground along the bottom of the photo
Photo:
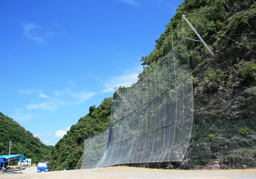
[[[137,167],[106,167],[80,170],[53,171],[45,173],[0,174],[4,179],[227,179],[256,178],[256,169],[236,170],[163,170]]]

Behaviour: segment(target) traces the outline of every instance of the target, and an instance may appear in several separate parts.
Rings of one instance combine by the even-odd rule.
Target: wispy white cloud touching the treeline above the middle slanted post
[[[137,68],[134,68],[129,71],[125,71],[124,74],[116,77],[111,77],[109,80],[107,80],[104,85],[105,88],[102,92],[111,92],[113,91],[113,87],[116,86],[117,88],[119,86],[130,86],[133,82],[137,82],[138,75],[142,72],[143,67],[140,65]]]

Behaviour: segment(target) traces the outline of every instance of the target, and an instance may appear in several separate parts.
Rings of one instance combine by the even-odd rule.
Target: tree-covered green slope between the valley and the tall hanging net
[[[80,169],[84,154],[84,139],[109,128],[112,97],[105,98],[99,107],[91,106],[89,113],[80,118],[52,150],[51,169]],[[88,135],[86,135],[86,134]]]

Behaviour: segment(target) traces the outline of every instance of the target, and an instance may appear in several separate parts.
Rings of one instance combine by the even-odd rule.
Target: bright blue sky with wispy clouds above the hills
[[[1,1],[0,112],[47,145],[142,72],[183,1]]]

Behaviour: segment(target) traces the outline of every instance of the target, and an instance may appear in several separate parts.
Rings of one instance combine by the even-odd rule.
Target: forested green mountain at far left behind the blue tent
[[[43,144],[39,138],[12,118],[0,112],[0,155],[9,154],[9,141],[12,142],[11,154],[23,154],[24,159],[31,158],[32,163],[50,159],[52,145]],[[17,165],[18,159],[12,165]]]

